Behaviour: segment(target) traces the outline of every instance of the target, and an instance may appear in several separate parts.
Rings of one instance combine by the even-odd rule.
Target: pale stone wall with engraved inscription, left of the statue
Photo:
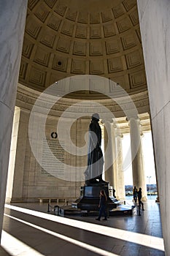
[[[79,178],[79,167],[85,171],[87,154],[85,156],[80,156],[79,152],[76,152],[77,155],[69,154],[64,147],[72,149],[73,143],[77,146],[77,150],[85,146],[85,151],[88,153],[85,132],[88,131],[90,120],[79,118],[74,121],[70,130],[68,119],[62,120],[62,127],[66,127],[68,137],[61,131],[59,140],[51,136],[53,132],[57,132],[58,117],[47,116],[44,138],[41,127],[43,115],[36,115],[37,129],[28,132],[30,113],[29,110],[15,108],[7,202],[34,202],[41,197],[67,198],[68,200],[80,197],[80,187],[84,184],[81,178],[84,176],[81,175]],[[71,140],[69,140],[69,133]],[[34,139],[34,145],[30,136]],[[56,159],[61,162],[56,162]],[[74,173],[71,172],[71,167],[75,169]]]

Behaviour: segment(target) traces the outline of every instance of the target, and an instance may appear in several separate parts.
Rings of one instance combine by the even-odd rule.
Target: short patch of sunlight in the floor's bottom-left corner
[[[2,230],[1,232],[1,246],[12,256],[25,255],[25,256],[44,256],[37,252],[35,249],[24,244],[17,238],[9,235],[7,232]]]

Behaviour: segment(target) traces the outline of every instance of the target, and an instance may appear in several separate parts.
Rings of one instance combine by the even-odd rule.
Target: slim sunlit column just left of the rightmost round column
[[[125,200],[125,180],[123,172],[123,135],[117,130],[116,133],[116,153],[117,153],[117,195],[119,199]]]

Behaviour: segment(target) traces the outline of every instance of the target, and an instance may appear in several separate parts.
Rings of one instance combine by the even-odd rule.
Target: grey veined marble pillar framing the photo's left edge
[[[26,23],[26,0],[0,1],[0,236],[7,185],[9,148],[17,92],[23,33]]]

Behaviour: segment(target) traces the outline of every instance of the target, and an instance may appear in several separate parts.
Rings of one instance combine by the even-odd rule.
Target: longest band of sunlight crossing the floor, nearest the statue
[[[58,222],[64,225],[77,227],[82,230],[88,230],[90,232],[98,233],[104,236],[109,236],[112,238],[117,238],[117,239],[125,240],[131,243],[140,244],[142,246],[148,246],[154,249],[159,249],[161,251],[164,251],[163,238],[149,236],[141,233],[134,233],[127,230],[120,230],[115,227],[106,227],[106,226],[96,225],[93,223],[82,222],[80,220],[75,220],[75,219],[66,219],[64,217],[45,214],[40,211],[33,211],[26,208],[20,208],[18,206],[11,206],[11,205],[5,204],[5,207],[15,211],[23,212],[24,214],[31,214],[36,217],[52,220],[53,222]]]

